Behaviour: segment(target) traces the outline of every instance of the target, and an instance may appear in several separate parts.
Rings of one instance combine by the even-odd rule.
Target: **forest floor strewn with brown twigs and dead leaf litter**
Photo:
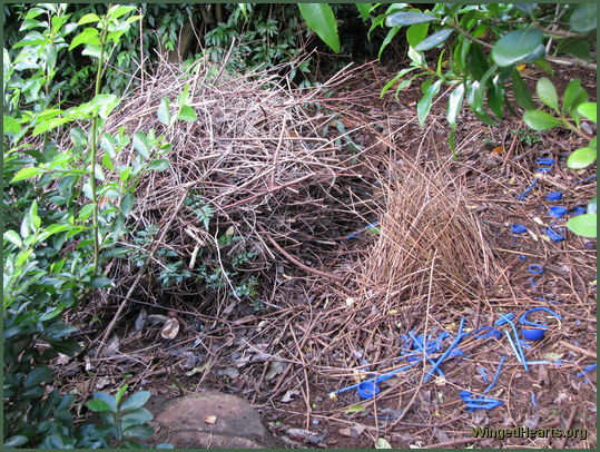
[[[63,363],[58,375],[62,389],[82,399],[122,382],[163,397],[209,390],[236,394],[262,413],[265,425],[287,448],[372,449],[380,439],[392,448],[594,448],[596,371],[582,373],[596,363],[597,354],[597,244],[567,230],[565,218],[548,215],[551,205],[572,209],[586,206],[594,196],[596,179],[586,180],[593,170],[576,174],[565,166],[570,151],[581,146],[580,139],[564,130],[533,132],[514,117],[490,127],[465,112],[456,131],[459,158],[453,159],[444,97],[434,102],[425,127],[420,128],[415,115],[417,86],[402,91],[397,100],[393,90],[380,98],[381,88],[393,76],[388,68],[365,65],[337,87],[326,106],[336,114],[335,128],[347,132],[353,145],[363,149],[356,157],[360,165],[354,167],[363,177],[353,175],[335,185],[332,181],[329,194],[338,200],[344,198],[347,209],[337,205],[340,212],[358,212],[355,222],[343,224],[334,218],[328,228],[306,226],[311,215],[331,217],[322,193],[313,193],[313,198],[305,200],[305,210],[301,210],[302,199],[297,198],[298,210],[286,207],[289,218],[302,217],[299,223],[305,226],[285,242],[279,236],[279,246],[305,266],[321,268],[324,275],[307,272],[279,253],[264,229],[281,226],[278,230],[283,230],[277,223],[281,218],[265,222],[257,226],[258,233],[276,261],[260,271],[260,311],[248,303],[232,303],[222,306],[217,315],[199,307],[194,296],[161,296],[157,301],[136,294],[116,328],[119,345],[105,357],[80,355],[79,361]],[[539,77],[524,73],[530,81]],[[573,69],[557,75],[559,91],[576,77],[593,96],[596,79]],[[517,196],[535,177],[539,158],[553,158],[555,163],[518,202]],[[337,177],[343,179],[340,171]],[[377,215],[391,215],[386,210],[392,206],[391,193],[407,184],[403,175],[431,176],[434,190],[449,190],[444,195],[447,203],[460,202],[456,212],[468,220],[461,219],[459,226],[476,227],[471,233],[474,240],[483,240],[476,248],[482,249],[483,261],[478,261],[480,256],[463,263],[460,253],[453,257],[452,249],[463,246],[462,236],[456,244],[452,237],[446,238],[440,247],[432,239],[431,249],[424,250],[433,257],[423,262],[422,268],[411,264],[416,265],[419,279],[411,279],[410,291],[400,287],[402,277],[394,278],[402,268],[385,262],[392,256],[385,247],[392,245],[382,242],[386,223]],[[563,194],[562,200],[547,200],[545,196],[557,190]],[[368,205],[370,198],[373,205]],[[407,199],[403,203],[412,208]],[[361,210],[361,206],[368,208]],[[395,214],[404,215],[399,222],[414,218],[410,212]],[[442,214],[449,213],[443,209]],[[450,217],[446,220],[449,225],[454,222]],[[362,230],[346,238],[372,222],[380,222],[381,230]],[[528,232],[511,233],[513,224],[527,226]],[[287,230],[296,225],[289,220]],[[544,235],[548,226],[564,239],[549,239]],[[396,245],[400,256],[402,244]],[[456,282],[456,286],[447,283],[447,277],[435,273],[441,262],[456,267],[446,268],[446,275],[462,275],[460,267],[464,265],[473,281]],[[473,275],[478,273],[473,266],[479,264],[481,274]],[[543,273],[530,273],[532,265]],[[390,281],[376,281],[373,268],[387,272]],[[386,287],[387,283],[393,289]],[[111,302],[110,306],[116,309],[119,303]],[[100,322],[90,327],[87,350],[111,320],[115,311],[110,306],[89,307],[87,315]],[[552,309],[561,317],[559,321],[544,312],[529,317],[548,325],[548,330],[542,341],[522,342],[527,361],[548,364],[530,365],[525,371],[505,337],[505,331],[512,330],[505,326],[498,326],[500,338],[473,334],[494,325],[500,314],[513,313],[517,322],[533,307]],[[181,326],[176,337],[163,338],[160,323],[141,331],[134,328],[142,309],[148,316],[177,318]],[[360,399],[354,390],[331,396],[375,373],[405,365],[406,357],[401,355],[414,348],[414,341],[411,345],[403,340],[410,332],[416,336],[426,332],[432,338],[446,332],[449,336],[441,340],[443,346],[429,356],[437,360],[456,336],[462,318],[463,332],[470,334],[459,344],[463,354],[442,364],[443,377],[425,381],[431,364],[421,356],[414,367],[381,382],[381,393],[374,399]],[[517,322],[519,330],[521,326]],[[86,362],[91,365],[86,367]],[[501,404],[468,410],[461,392],[481,396],[499,366],[495,385],[485,396]],[[571,429],[573,436],[474,439],[474,426]]]

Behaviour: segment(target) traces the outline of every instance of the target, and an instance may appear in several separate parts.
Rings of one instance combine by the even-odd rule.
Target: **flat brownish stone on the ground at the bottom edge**
[[[154,442],[175,449],[260,449],[266,431],[244,399],[203,392],[166,402],[157,409]]]

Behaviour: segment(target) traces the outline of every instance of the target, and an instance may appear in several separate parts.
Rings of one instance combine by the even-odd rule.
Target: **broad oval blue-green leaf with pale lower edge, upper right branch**
[[[492,49],[492,58],[500,67],[517,65],[539,52],[543,35],[537,28],[511,31],[500,38]]]

